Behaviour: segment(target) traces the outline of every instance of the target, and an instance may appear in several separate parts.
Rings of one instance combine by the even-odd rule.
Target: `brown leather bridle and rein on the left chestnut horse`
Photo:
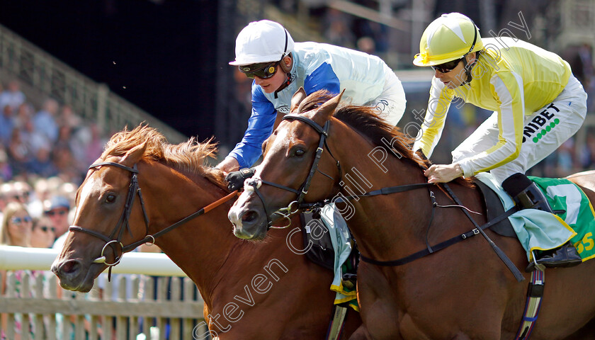
[[[216,208],[217,206],[221,205],[222,203],[227,202],[227,200],[230,200],[231,198],[233,198],[234,196],[237,195],[237,191],[229,193],[229,195],[222,197],[213,203],[210,203],[209,205],[205,206],[204,208],[201,208],[200,210],[198,210],[196,212],[193,212],[191,215],[184,217],[183,219],[179,220],[178,222],[175,222],[173,225],[170,225],[169,227],[166,227],[154,234],[149,234],[149,217],[147,215],[147,210],[145,209],[145,200],[142,199],[142,193],[141,193],[140,187],[138,185],[138,176],[137,176],[138,170],[137,170],[136,164],[135,164],[135,166],[133,166],[131,168],[130,166],[125,166],[123,164],[119,164],[119,163],[115,163],[115,162],[101,162],[101,163],[91,164],[91,166],[89,166],[89,169],[95,169],[96,167],[102,166],[102,165],[116,166],[120,169],[124,169],[131,173],[130,186],[128,186],[128,194],[126,196],[124,209],[123,209],[122,215],[120,216],[120,220],[118,220],[118,223],[115,225],[113,231],[111,232],[111,234],[109,234],[109,236],[106,236],[104,234],[101,234],[100,232],[96,232],[91,229],[79,227],[78,225],[71,225],[68,227],[68,229],[69,229],[69,231],[72,231],[72,232],[84,232],[91,236],[97,237],[98,239],[102,239],[103,241],[106,242],[106,244],[103,246],[103,249],[101,249],[100,256],[97,259],[95,259],[93,261],[93,263],[104,263],[106,266],[108,266],[109,267],[108,278],[111,277],[111,268],[113,266],[115,266],[116,264],[120,263],[120,260],[122,259],[122,256],[124,255],[125,252],[131,251],[132,249],[135,249],[137,246],[140,246],[143,243],[151,242],[151,244],[154,244],[155,239],[157,237],[162,236],[166,232],[170,232],[173,229],[176,229],[177,227],[183,225],[184,223],[188,222],[189,220],[192,220],[193,218],[196,218],[200,215],[205,214],[206,212],[209,212],[210,210]],[[128,219],[130,217],[130,212],[132,212],[132,204],[135,201],[136,195],[138,195],[138,197],[139,197],[140,206],[142,208],[142,215],[143,215],[142,217],[145,220],[145,237],[143,239],[141,239],[140,241],[133,242],[132,244],[128,244],[127,246],[124,246],[121,242],[123,234],[124,234],[124,228],[128,230],[128,233],[132,237],[132,232],[130,231],[130,225],[128,223]],[[118,237],[114,238],[116,234],[118,234]],[[115,256],[113,263],[107,263],[106,256],[103,254],[103,252],[106,251],[106,248],[108,246],[111,246],[114,256],[115,256],[115,254],[118,254],[118,251],[115,246],[120,246],[121,254],[120,254],[120,256]]]

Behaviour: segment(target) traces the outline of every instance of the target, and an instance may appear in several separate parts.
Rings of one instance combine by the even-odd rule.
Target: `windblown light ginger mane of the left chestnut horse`
[[[101,159],[108,156],[124,156],[130,149],[145,144],[144,159],[171,166],[179,171],[187,171],[191,174],[205,176],[206,179],[218,186],[226,187],[222,171],[211,168],[207,165],[208,158],[214,158],[217,152],[217,144],[212,138],[205,142],[198,142],[196,137],[177,145],[169,144],[164,135],[154,128],[142,123],[133,130],[116,132],[106,143],[105,151]]]

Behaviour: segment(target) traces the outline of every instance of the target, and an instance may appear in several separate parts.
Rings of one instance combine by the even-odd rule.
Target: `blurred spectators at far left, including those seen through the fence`
[[[96,125],[84,122],[67,104],[47,98],[35,108],[16,79],[0,79],[0,110],[0,244],[60,249],[73,219],[77,188],[105,140]],[[27,277],[45,281],[53,274],[0,271],[2,295],[8,275],[15,280],[16,294],[24,297]],[[6,339],[8,319],[0,316],[0,339]],[[33,326],[23,329],[28,324],[23,317],[27,315],[15,315],[14,340],[40,332]],[[57,319],[62,322],[62,315]],[[69,339],[60,333],[62,327],[57,331],[58,339]]]

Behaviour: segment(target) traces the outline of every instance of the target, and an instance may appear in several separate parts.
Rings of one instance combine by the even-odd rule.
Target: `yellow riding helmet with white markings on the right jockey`
[[[424,30],[419,41],[416,66],[433,66],[457,60],[483,49],[480,29],[461,13],[443,14]]]

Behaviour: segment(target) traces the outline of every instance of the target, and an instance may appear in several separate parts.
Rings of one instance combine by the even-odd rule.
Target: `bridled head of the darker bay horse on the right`
[[[303,89],[294,94],[290,114],[263,144],[262,164],[229,210],[237,237],[263,239],[269,227],[288,220],[302,203],[323,200],[339,190],[341,170],[331,155],[326,156],[330,150],[325,140],[341,96],[324,91],[306,96]]]

